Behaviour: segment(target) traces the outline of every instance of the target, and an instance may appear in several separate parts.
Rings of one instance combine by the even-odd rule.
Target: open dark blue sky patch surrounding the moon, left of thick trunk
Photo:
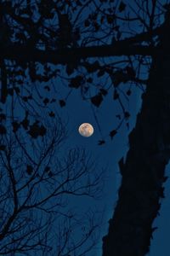
[[[122,84],[122,86],[128,86]],[[131,119],[129,120],[130,129],[135,125],[136,113],[140,108],[140,95],[142,93],[139,88],[133,88],[132,96],[128,103],[128,110],[131,113]],[[116,137],[111,138],[108,136],[109,132],[113,130],[118,121],[116,119],[116,113],[121,112],[121,108],[116,101],[113,101],[112,94],[106,96],[105,101],[102,102],[99,108],[94,108],[94,112],[97,114],[99,119],[99,125],[101,127],[102,134],[105,137],[106,143],[102,146],[98,145],[98,141],[101,139],[101,135],[98,129],[98,125],[94,119],[94,113],[88,102],[83,102],[81,96],[79,95],[79,90],[74,90],[73,94],[66,103],[65,108],[61,108],[59,113],[63,119],[69,119],[69,136],[65,147],[82,147],[86,148],[87,151],[92,155],[96,160],[99,167],[107,167],[105,170],[105,188],[101,200],[94,201],[86,198],[77,200],[75,198],[74,202],[78,205],[79,209],[86,210],[88,207],[95,207],[102,211],[105,208],[105,218],[104,225],[101,230],[101,237],[105,236],[108,228],[108,220],[111,218],[113,213],[113,208],[116,204],[117,199],[117,190],[120,185],[121,176],[118,169],[118,161],[122,156],[126,156],[128,149],[128,140],[127,136],[129,131],[125,124],[122,125],[122,128],[116,134]],[[83,122],[89,122],[94,125],[94,135],[92,137],[82,137],[79,135],[77,129],[80,124]],[[86,207],[85,207],[86,206]],[[94,250],[92,254],[94,256],[101,255],[102,241],[98,245],[97,251]]]

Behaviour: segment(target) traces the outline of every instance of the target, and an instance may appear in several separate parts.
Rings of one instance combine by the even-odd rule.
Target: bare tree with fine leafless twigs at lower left
[[[66,136],[59,117],[40,123],[26,113],[18,122],[14,110],[10,119],[0,114],[0,255],[81,255],[94,247],[98,224],[93,212],[78,217],[68,198],[96,196],[101,173],[84,149],[59,154]]]

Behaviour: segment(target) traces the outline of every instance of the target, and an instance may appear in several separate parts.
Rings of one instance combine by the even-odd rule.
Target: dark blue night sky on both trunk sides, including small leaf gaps
[[[87,13],[85,15],[87,15]],[[125,27],[125,30],[126,29],[127,27]],[[134,31],[137,29],[135,23],[133,25],[133,29]],[[63,73],[65,73],[65,67],[59,66],[59,68],[61,68],[61,70],[63,69]],[[147,74],[145,74],[145,70],[143,71],[145,78],[147,77]],[[79,73],[74,73],[74,75],[77,74]],[[68,87],[68,84],[63,86],[59,80],[57,80],[57,82],[56,80],[54,79],[52,83],[54,85],[55,83],[57,84],[57,86],[55,86],[55,88],[57,88],[56,98],[59,101],[59,99],[65,99],[66,95],[70,91],[70,88]],[[96,81],[94,79],[94,84],[95,82],[99,83],[99,78],[96,79]],[[107,83],[107,80],[101,79],[100,82],[102,85],[104,85],[104,83]],[[111,81],[108,82],[108,86],[110,85]],[[125,105],[128,113],[130,113],[130,117],[128,119],[128,127],[126,122],[123,122],[120,129],[118,129],[116,136],[112,139],[110,137],[110,132],[113,129],[116,129],[117,125],[120,123],[120,120],[116,116],[117,114],[122,114],[120,103],[113,100],[113,90],[108,90],[108,94],[104,97],[104,101],[100,104],[99,108],[94,106],[90,101],[83,101],[80,88],[71,89],[71,94],[65,100],[66,104],[64,108],[59,107],[59,102],[58,104],[55,104],[54,112],[56,111],[56,113],[59,113],[59,117],[65,122],[65,128],[68,132],[63,146],[59,148],[59,154],[62,156],[65,155],[65,152],[70,148],[85,148],[91,159],[96,163],[95,169],[99,170],[99,172],[100,170],[103,170],[104,172],[104,186],[98,199],[89,198],[87,196],[75,196],[69,201],[69,207],[77,209],[77,212],[80,214],[83,212],[88,212],[89,209],[94,212],[103,212],[103,219],[99,230],[99,243],[92,249],[90,253],[87,254],[88,256],[102,255],[102,237],[107,234],[108,221],[110,218],[112,218],[117,201],[117,191],[121,183],[118,161],[122,158],[122,156],[124,156],[124,158],[126,157],[128,150],[128,134],[135,126],[136,116],[141,108],[141,95],[144,92],[144,87],[142,90],[134,84],[132,86],[131,85],[132,84],[128,83],[122,83],[119,85],[119,89],[125,92],[131,88],[132,94],[128,97],[128,99],[123,97],[122,94],[123,104]],[[105,84],[105,88],[108,88],[108,86]],[[45,90],[42,92],[43,97],[50,94],[53,94],[53,91],[49,92],[49,94]],[[53,110],[53,107],[50,108]],[[22,111],[18,109],[19,115],[23,114]],[[92,137],[82,137],[78,133],[78,127],[82,123],[90,123],[94,126],[94,134]],[[105,141],[105,143],[103,145],[99,145],[99,141]],[[167,176],[169,176],[169,169],[170,165],[167,166]],[[166,198],[161,200],[160,216],[156,218],[153,224],[154,227],[158,227],[158,230],[156,230],[153,234],[150,253],[148,253],[149,256],[169,256],[169,179],[167,179],[167,182],[165,183],[165,196]],[[78,234],[76,234],[76,236],[78,236]],[[17,255],[20,254],[16,254],[16,256]]]

